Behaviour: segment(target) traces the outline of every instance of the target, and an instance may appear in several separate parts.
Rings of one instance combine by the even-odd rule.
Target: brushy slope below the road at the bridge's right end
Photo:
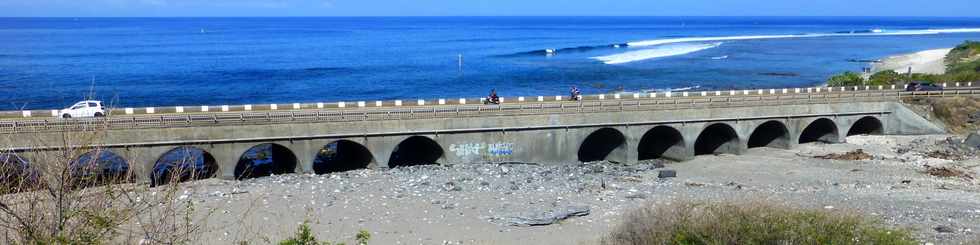
[[[966,134],[980,129],[980,98],[914,98],[904,102],[950,133]]]

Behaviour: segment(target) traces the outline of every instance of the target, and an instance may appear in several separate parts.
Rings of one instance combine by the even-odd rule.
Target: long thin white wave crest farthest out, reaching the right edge
[[[936,35],[936,34],[943,34],[943,33],[974,33],[974,32],[980,32],[980,28],[897,30],[897,31],[875,29],[874,31],[868,33],[822,33],[822,34],[753,35],[753,36],[727,36],[727,37],[683,37],[683,38],[667,38],[667,39],[629,42],[627,43],[627,45],[630,47],[646,47],[646,46],[657,46],[657,45],[664,45],[664,44],[689,43],[689,42],[719,42],[719,41],[737,41],[737,40],[844,37],[844,36]]]

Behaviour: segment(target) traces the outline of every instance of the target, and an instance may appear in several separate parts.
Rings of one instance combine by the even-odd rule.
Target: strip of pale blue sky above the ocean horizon
[[[3,17],[929,16],[977,0],[0,0]]]

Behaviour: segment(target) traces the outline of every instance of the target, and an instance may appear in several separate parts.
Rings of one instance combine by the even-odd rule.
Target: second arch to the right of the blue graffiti
[[[640,138],[637,160],[659,158],[682,160],[685,148],[687,147],[684,143],[684,135],[680,131],[670,126],[656,126]]]

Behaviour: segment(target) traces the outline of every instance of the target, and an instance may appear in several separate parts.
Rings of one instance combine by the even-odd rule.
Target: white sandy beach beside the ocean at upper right
[[[899,73],[908,72],[912,67],[914,73],[943,74],[946,71],[946,62],[943,58],[952,50],[951,48],[931,49],[910,54],[902,54],[885,58],[881,63],[876,63],[872,67],[872,72],[894,70]]]

